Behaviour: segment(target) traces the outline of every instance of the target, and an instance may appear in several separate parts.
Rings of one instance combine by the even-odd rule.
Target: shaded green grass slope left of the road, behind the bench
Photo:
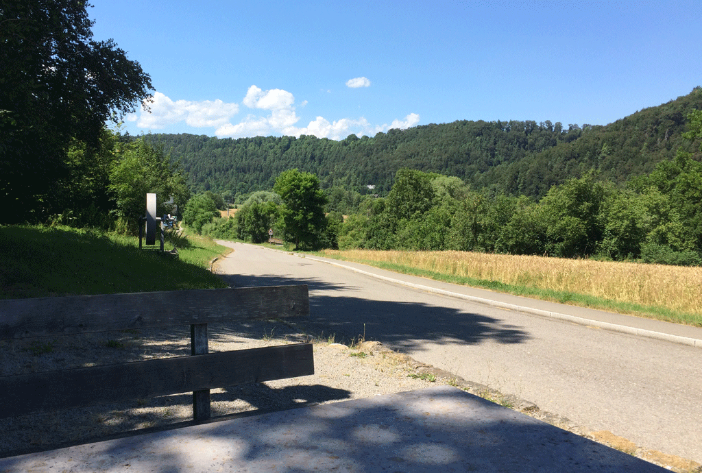
[[[180,237],[179,258],[138,246],[92,229],[0,226],[0,298],[226,287],[208,267],[227,248],[209,239]]]

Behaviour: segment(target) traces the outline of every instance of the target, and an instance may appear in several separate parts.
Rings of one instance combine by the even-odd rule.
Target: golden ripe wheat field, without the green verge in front
[[[326,253],[348,260],[388,262],[456,277],[702,314],[702,267],[463,251],[347,250]]]

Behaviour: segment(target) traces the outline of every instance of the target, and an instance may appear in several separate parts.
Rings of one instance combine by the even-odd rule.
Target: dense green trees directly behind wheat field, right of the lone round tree
[[[348,216],[337,244],[701,265],[701,202],[702,164],[685,152],[623,188],[592,172],[538,200],[404,168],[388,197]]]

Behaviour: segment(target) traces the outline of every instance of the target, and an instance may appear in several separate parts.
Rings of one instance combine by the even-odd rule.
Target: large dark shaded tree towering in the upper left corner
[[[150,77],[94,41],[81,0],[0,1],[0,221],[37,220],[69,173],[72,140],[97,146],[107,119],[150,98]]]

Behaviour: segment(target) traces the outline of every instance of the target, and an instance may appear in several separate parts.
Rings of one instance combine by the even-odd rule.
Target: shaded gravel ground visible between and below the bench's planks
[[[289,324],[277,321],[244,321],[211,324],[211,352],[251,348],[265,335],[297,342],[303,339]],[[6,340],[0,345],[0,375],[106,365],[124,361],[190,355],[190,327],[173,326],[143,330],[66,335],[51,340],[46,352],[37,350],[32,339]],[[34,350],[34,352],[32,352]],[[54,356],[58,355],[58,356]],[[15,368],[13,370],[12,368]],[[304,378],[300,378],[304,380]],[[263,383],[223,387],[211,392],[213,421],[274,411],[284,411],[350,399],[351,392],[318,384],[272,388]],[[192,393],[138,399],[64,411],[0,419],[0,458],[46,451],[105,439],[193,425]],[[37,425],[43,426],[37,429]],[[0,468],[0,471],[4,471]]]

